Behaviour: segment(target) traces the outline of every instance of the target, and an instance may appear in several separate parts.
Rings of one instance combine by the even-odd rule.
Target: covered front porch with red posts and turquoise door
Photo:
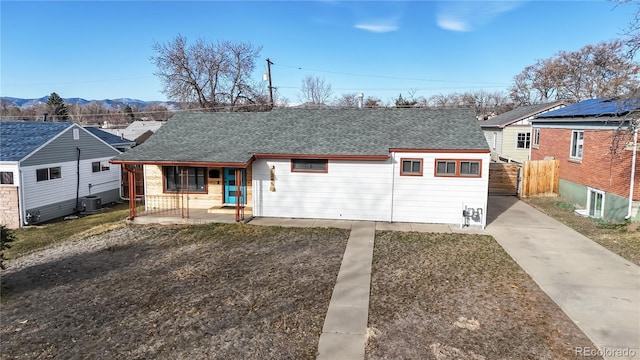
[[[252,217],[248,164],[122,163],[122,169],[128,180],[128,220],[134,223],[244,222]],[[139,176],[144,177],[143,194],[136,186]]]

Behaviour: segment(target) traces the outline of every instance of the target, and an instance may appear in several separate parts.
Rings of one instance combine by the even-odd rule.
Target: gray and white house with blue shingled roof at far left
[[[0,121],[0,223],[52,220],[119,199],[120,152],[70,122]],[[91,209],[93,210],[93,209]]]

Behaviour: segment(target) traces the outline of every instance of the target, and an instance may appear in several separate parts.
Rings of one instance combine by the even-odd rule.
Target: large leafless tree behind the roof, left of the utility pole
[[[178,35],[169,43],[154,43],[151,61],[169,99],[195,102],[212,111],[229,106],[233,111],[243,101],[253,101],[250,76],[261,49],[203,39],[188,45],[186,37]]]

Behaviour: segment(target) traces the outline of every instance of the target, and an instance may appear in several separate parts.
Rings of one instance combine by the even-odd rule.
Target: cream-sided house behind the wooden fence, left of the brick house
[[[494,157],[501,156],[518,162],[529,160],[532,141],[529,121],[536,115],[564,106],[566,103],[563,101],[521,106],[480,122]]]

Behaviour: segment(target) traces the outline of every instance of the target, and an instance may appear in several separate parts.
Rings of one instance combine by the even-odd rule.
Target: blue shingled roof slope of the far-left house
[[[0,161],[20,161],[70,126],[73,123],[0,121]]]

